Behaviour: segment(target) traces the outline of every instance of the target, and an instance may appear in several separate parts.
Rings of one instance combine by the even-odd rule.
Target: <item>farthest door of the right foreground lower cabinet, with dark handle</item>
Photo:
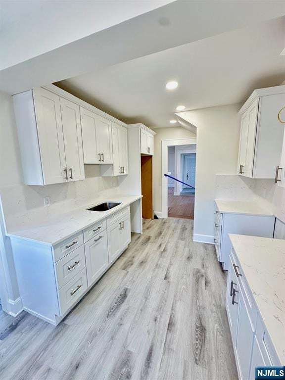
[[[238,289],[238,279],[234,271],[232,258],[230,256],[230,266],[228,271],[228,280],[227,280],[227,294],[226,294],[226,309],[228,314],[228,321],[230,325],[230,331],[232,334],[233,345],[236,344],[237,338],[237,329],[238,329],[238,303],[233,304],[233,291],[236,289],[235,293],[235,302],[238,302],[239,291]]]

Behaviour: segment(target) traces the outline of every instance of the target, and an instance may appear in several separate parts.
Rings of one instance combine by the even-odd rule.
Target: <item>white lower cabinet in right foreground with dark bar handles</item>
[[[226,310],[239,380],[254,380],[255,367],[280,366],[233,248],[229,260]]]

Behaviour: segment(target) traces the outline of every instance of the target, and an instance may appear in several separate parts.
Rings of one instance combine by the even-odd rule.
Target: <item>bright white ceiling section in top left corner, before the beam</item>
[[[172,1],[1,0],[0,68],[69,44]]]

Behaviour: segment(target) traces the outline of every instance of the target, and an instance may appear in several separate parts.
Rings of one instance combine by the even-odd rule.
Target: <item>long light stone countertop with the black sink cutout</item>
[[[6,236],[10,238],[23,238],[47,245],[56,245],[141,198],[142,195],[116,195],[107,198],[96,198],[94,201],[86,204],[85,207],[62,214],[60,218],[51,218],[47,223],[37,223],[36,225],[29,226],[27,229],[8,231]],[[109,201],[120,202],[121,204],[108,211],[86,210],[86,208],[93,207],[96,204]]]

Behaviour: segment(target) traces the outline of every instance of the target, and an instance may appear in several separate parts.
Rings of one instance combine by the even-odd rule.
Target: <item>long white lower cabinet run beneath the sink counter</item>
[[[11,238],[23,309],[57,325],[130,241],[130,206],[54,246]]]

